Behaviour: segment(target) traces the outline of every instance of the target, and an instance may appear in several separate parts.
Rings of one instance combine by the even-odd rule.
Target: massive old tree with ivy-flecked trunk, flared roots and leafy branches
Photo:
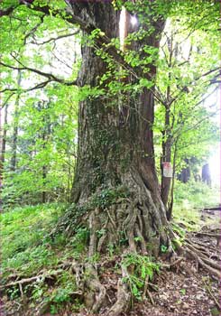
[[[60,16],[68,23],[78,24],[84,37],[77,80],[67,81],[26,67],[46,77],[44,85],[51,81],[77,84],[85,94],[78,111],[78,158],[71,194],[74,204],[56,229],[65,228],[71,233],[77,225],[89,226],[90,257],[97,251],[105,253],[110,245],[121,245],[123,237],[129,252],[157,256],[163,245],[170,253],[175,236],[161,201],[152,126],[161,33],[167,15],[174,14],[173,6],[180,10],[180,2],[66,0],[67,6],[63,1],[15,3],[11,7],[5,5],[0,16],[19,10],[16,5],[25,5],[32,10],[30,13]],[[122,5],[127,10],[124,36],[128,36],[120,45]],[[189,14],[191,5],[183,5],[184,13]],[[134,27],[129,24],[130,14],[137,15]],[[23,63],[12,67],[25,70]],[[98,282],[93,267],[89,269],[93,275],[90,278],[87,274],[86,286],[98,293],[90,306],[97,311],[105,300],[105,288]],[[128,305],[126,290],[126,284],[119,282],[110,315],[117,315]]]

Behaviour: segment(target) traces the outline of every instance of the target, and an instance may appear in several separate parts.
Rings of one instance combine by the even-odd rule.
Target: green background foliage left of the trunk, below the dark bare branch
[[[2,192],[5,207],[16,202],[39,202],[43,192],[47,200],[69,200],[77,118],[74,104],[69,107],[64,101],[64,93],[68,91],[58,87],[57,92],[57,98],[45,96],[43,102],[39,98],[26,98],[19,109],[15,172],[10,166],[13,153],[9,150],[5,156]],[[71,98],[74,98],[73,93]],[[8,129],[9,145],[13,129],[14,125]]]

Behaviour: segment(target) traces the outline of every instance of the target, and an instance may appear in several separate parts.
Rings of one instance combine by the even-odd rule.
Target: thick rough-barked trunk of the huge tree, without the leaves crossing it
[[[89,15],[89,21],[108,38],[118,37],[119,13],[110,3],[75,4],[74,10],[81,20]],[[152,35],[146,36],[142,43],[135,43],[137,49],[142,45],[159,47],[164,23],[158,21],[153,26],[156,25]],[[95,88],[106,73],[106,63],[92,47],[82,48],[82,58],[78,84]],[[150,65],[150,69],[146,78],[155,76],[155,66]],[[152,90],[143,88],[136,98],[128,97],[124,107],[127,111],[122,113],[118,100],[105,96],[89,97],[79,104],[78,161],[71,200],[85,205],[92,196],[104,196],[107,190],[124,188],[128,192],[126,198],[113,199],[108,208],[99,204],[88,215],[89,256],[105,251],[107,245],[115,246],[123,232],[131,251],[140,248],[152,253],[154,248],[156,255],[160,244],[169,242],[168,222],[155,172]],[[97,237],[97,231],[104,228],[105,234]]]

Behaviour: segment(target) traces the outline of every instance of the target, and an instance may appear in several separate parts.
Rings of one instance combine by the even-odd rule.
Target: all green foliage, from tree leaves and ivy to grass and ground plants
[[[208,144],[216,143],[217,140],[218,128],[211,119],[213,108],[211,111],[202,105],[202,98],[208,92],[208,86],[214,83],[219,71],[215,70],[214,77],[212,68],[219,67],[216,31],[219,27],[219,9],[216,9],[216,2],[114,1],[116,10],[124,5],[137,16],[141,25],[138,32],[130,33],[124,39],[124,51],[119,39],[106,38],[105,33],[97,28],[93,29],[90,24],[86,26],[87,29],[92,27],[90,34],[77,34],[76,23],[73,23],[66,12],[67,3],[70,2],[35,0],[28,7],[18,5],[18,1],[4,0],[0,4],[1,10],[14,6],[12,14],[3,14],[0,19],[3,68],[1,93],[4,105],[9,104],[10,107],[10,124],[5,125],[7,146],[2,191],[5,207],[10,211],[0,217],[3,226],[1,237],[4,282],[11,269],[20,275],[32,275],[38,274],[41,269],[53,270],[60,260],[84,257],[89,231],[85,223],[79,222],[79,218],[96,208],[105,213],[111,205],[128,197],[128,191],[122,186],[101,187],[83,205],[72,204],[67,207],[46,203],[12,209],[17,204],[70,200],[76,164],[77,128],[85,128],[77,123],[76,108],[79,101],[94,98],[99,102],[102,98],[108,101],[104,104],[113,107],[113,113],[116,111],[120,116],[124,105],[131,109],[130,102],[127,105],[128,96],[137,101],[141,90],[154,89],[157,108],[155,123],[151,128],[155,133],[155,146],[159,147],[170,139],[171,153],[175,153],[175,149],[178,151],[175,165],[177,170],[182,167],[184,158],[207,157]],[[37,7],[39,11],[34,10]],[[205,23],[205,16],[208,23]],[[152,39],[157,28],[153,25],[160,18],[169,18],[169,26],[162,36],[159,50],[146,42],[154,42]],[[104,38],[105,41],[102,42]],[[174,45],[172,49],[171,38]],[[60,44],[58,41],[61,41]],[[78,84],[86,84],[80,90],[75,88],[81,62],[78,58],[79,42],[90,46],[95,55],[106,62],[106,73],[96,79],[96,87],[91,88],[80,74]],[[188,56],[183,49],[184,45],[188,47]],[[139,50],[133,49],[136,47]],[[111,51],[114,51],[113,55]],[[157,76],[150,78],[150,70],[155,66]],[[84,107],[83,103],[81,105],[80,110]],[[168,110],[170,122],[165,121]],[[132,119],[139,119],[143,124],[143,117],[133,114],[134,112],[130,114]],[[109,119],[112,117],[108,117]],[[91,124],[95,123],[97,116],[91,117]],[[149,120],[146,124],[150,124]],[[97,128],[97,144],[101,152],[108,142],[110,144],[108,137],[114,138],[111,132]],[[113,144],[115,139],[111,141]],[[96,154],[97,157],[101,156]],[[93,172],[97,172],[99,163],[94,166]],[[105,175],[99,172],[97,174],[103,180]],[[109,174],[106,175],[108,176]],[[148,185],[147,183],[147,187]],[[177,181],[174,218],[179,217],[186,221],[187,218],[189,221],[192,218],[197,222],[198,215],[195,212],[192,211],[192,215],[187,216],[189,208],[186,210],[186,200],[191,208],[207,205],[206,202],[210,203],[210,200],[206,201],[209,193],[209,189],[200,183],[190,182],[187,187]],[[60,223],[59,218],[64,209],[65,215]],[[176,222],[173,229],[180,236],[176,242],[182,241],[184,233]],[[51,230],[55,234],[51,234]],[[64,235],[64,230],[66,233],[74,233],[74,236]],[[98,237],[104,234],[105,228],[97,230]],[[124,244],[125,241],[123,235],[121,243]],[[135,237],[135,241],[139,241],[139,237]],[[175,240],[172,242],[176,244]],[[113,256],[114,245],[110,243],[107,249],[108,255]],[[161,245],[161,252],[167,250],[166,246]],[[99,254],[96,254],[89,260],[96,263],[99,258]],[[127,254],[124,256],[123,267],[128,272],[124,282],[130,286],[134,297],[141,300],[146,280],[152,280],[153,274],[159,272],[160,265],[148,256]],[[75,290],[73,277],[69,272],[64,272],[60,274],[53,289],[43,283],[34,283],[31,290],[32,300],[38,301],[45,297],[45,302],[51,304],[51,314],[55,314],[63,303],[71,302]],[[19,295],[16,288],[9,291],[12,299]],[[80,305],[80,302],[76,303]]]

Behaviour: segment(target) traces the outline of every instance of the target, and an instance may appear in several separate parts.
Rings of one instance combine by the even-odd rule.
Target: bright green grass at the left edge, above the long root
[[[58,258],[47,236],[56,224],[63,205],[44,204],[16,208],[2,213],[1,257],[4,274],[20,271],[35,274],[44,266],[56,265]]]

